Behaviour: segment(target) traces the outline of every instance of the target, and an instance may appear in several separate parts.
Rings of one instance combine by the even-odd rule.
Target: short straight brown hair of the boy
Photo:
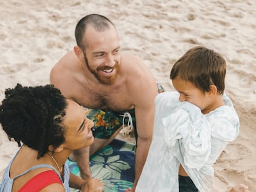
[[[225,88],[226,61],[217,52],[197,46],[186,52],[171,69],[170,79],[179,76],[190,81],[198,89],[208,92],[215,85],[220,94]]]

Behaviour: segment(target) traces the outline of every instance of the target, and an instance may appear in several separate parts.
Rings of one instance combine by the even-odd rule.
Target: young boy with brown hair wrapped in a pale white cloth
[[[176,91],[155,99],[153,140],[136,191],[213,190],[213,164],[239,133],[225,75],[223,57],[202,46],[174,64]]]

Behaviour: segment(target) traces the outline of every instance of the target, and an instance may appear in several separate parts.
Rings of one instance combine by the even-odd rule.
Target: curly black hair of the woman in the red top
[[[19,83],[6,89],[0,106],[0,122],[9,139],[38,151],[42,157],[48,147],[64,143],[63,120],[67,102],[53,85],[26,87]]]

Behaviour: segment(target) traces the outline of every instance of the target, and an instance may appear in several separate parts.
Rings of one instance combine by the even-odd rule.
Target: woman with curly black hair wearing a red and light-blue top
[[[96,178],[83,180],[65,164],[75,150],[90,146],[93,122],[53,85],[7,89],[0,122],[21,148],[9,163],[0,191],[103,191]]]

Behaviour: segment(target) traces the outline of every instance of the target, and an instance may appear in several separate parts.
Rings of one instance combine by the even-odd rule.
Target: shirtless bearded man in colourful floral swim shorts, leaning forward
[[[75,39],[77,46],[54,65],[50,75],[51,84],[66,98],[92,109],[88,117],[95,123],[92,129],[95,142],[90,150],[75,151],[75,161],[82,178],[91,178],[89,155],[115,138],[122,128],[122,115],[129,112],[137,138],[135,181],[131,190],[134,191],[150,147],[154,99],[161,92],[161,85],[141,59],[121,52],[116,28],[106,17],[96,14],[83,17],[75,28]],[[98,123],[99,116],[105,125]]]

